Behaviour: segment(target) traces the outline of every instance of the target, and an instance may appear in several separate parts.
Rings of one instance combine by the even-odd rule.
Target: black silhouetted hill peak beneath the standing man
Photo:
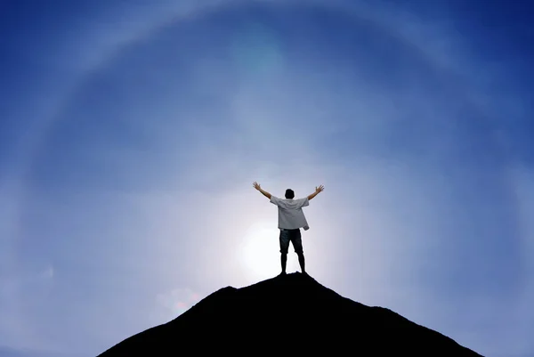
[[[391,310],[354,302],[295,272],[246,288],[222,288],[98,357],[184,353],[481,356]]]

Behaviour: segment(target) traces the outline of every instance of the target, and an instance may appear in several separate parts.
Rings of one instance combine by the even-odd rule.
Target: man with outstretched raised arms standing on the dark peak
[[[303,213],[303,207],[310,205],[310,199],[313,199],[323,191],[323,185],[315,188],[315,192],[303,199],[294,199],[295,192],[291,189],[286,190],[286,199],[279,199],[272,196],[271,193],[263,191],[259,183],[253,183],[257,191],[263,193],[267,199],[271,199],[271,203],[279,207],[279,230],[280,230],[280,263],[282,264],[282,272],[280,275],[286,275],[287,250],[289,248],[289,241],[295,248],[295,253],[298,256],[298,263],[301,266],[303,274],[307,274],[304,267],[304,253],[303,240],[301,237],[300,228],[308,231],[310,227],[306,222],[306,217]]]

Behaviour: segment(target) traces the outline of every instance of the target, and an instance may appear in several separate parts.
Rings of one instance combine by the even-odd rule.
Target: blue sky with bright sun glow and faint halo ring
[[[322,285],[534,356],[533,15],[0,2],[0,356],[94,356],[276,276],[277,207],[255,181],[325,186],[303,231]]]

